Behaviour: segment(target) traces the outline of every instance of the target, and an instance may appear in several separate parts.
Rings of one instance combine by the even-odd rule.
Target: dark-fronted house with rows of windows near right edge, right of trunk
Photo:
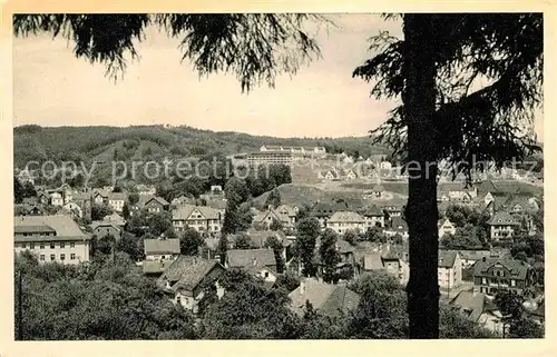
[[[473,265],[473,289],[495,295],[499,290],[521,294],[535,282],[534,268],[511,258],[482,258]]]

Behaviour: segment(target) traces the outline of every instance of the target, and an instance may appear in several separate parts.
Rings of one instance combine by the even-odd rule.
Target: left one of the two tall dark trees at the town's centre
[[[304,276],[314,276],[315,266],[315,244],[321,231],[319,221],[315,218],[304,218],[296,225],[296,241],[294,249],[300,262],[303,266]]]

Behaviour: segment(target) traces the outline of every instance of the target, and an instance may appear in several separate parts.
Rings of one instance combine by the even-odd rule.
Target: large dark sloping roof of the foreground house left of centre
[[[170,282],[170,290],[194,290],[205,277],[215,268],[221,267],[216,260],[199,257],[179,256],[157,279],[157,285],[165,288]],[[223,269],[224,270],[224,269]]]

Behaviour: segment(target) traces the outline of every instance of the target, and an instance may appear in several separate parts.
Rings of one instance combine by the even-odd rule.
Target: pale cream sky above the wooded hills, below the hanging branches
[[[155,29],[137,46],[139,61],[116,82],[102,65],[77,59],[62,38],[14,38],[14,125],[169,123],[275,137],[364,136],[395,102],[370,97],[372,86],[352,71],[372,57],[370,37],[384,30],[400,37],[402,29],[377,14],[332,17],[336,27],[316,32],[322,59],[293,77],[280,76],[274,89],[262,86],[248,95],[233,76],[199,78],[180,62],[179,39]],[[543,120],[536,129],[540,137]]]

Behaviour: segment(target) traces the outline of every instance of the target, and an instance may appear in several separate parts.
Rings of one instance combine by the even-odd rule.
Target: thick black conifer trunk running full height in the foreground
[[[433,115],[436,103],[434,28],[431,16],[404,16],[407,79],[402,100],[408,120],[410,235],[408,314],[410,338],[439,338],[437,162]]]

